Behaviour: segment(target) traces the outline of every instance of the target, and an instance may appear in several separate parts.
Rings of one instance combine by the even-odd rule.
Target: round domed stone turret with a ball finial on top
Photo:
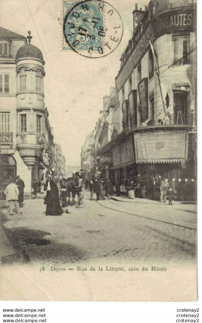
[[[29,169],[34,168],[44,150],[44,60],[39,48],[30,44],[20,47],[16,54],[17,73],[17,150]]]

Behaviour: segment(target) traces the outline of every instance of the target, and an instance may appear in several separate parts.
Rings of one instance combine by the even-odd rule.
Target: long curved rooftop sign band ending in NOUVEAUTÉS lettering
[[[170,9],[166,12],[154,16],[143,32],[140,40],[125,62],[123,68],[116,77],[116,86],[118,91],[122,88],[127,78],[133,72],[133,68],[137,66],[142,56],[150,47],[149,39],[152,42],[162,35],[171,34],[173,32],[187,31],[191,32],[196,29],[195,15],[192,7],[184,7],[183,9]]]

